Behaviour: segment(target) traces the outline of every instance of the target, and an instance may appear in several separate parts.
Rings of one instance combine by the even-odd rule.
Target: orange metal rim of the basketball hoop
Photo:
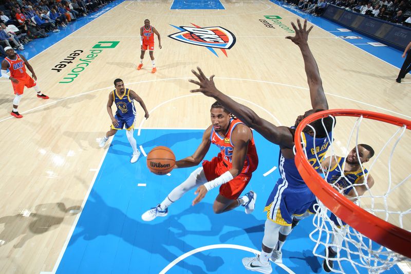
[[[362,111],[360,109],[329,109],[328,111],[311,114],[302,120],[295,131],[294,143],[301,143],[301,132],[307,124],[329,115],[352,117],[363,116],[367,119],[382,121],[398,126],[405,125],[408,130],[411,129],[411,121],[395,116]],[[295,150],[294,160],[298,172],[300,172],[312,193],[314,193],[314,195],[319,198],[329,210],[369,239],[411,258],[411,232],[385,222],[381,218],[372,215],[348,200],[344,195],[332,188],[320,174],[311,167],[301,145],[295,145]]]

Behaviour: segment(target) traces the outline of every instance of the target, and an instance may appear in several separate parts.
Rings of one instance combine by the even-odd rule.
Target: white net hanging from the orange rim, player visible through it
[[[337,119],[337,126],[332,131],[334,141],[317,171],[330,185],[367,212],[411,231],[411,134],[406,126],[363,116]],[[314,128],[308,126],[315,137]],[[375,150],[369,161],[363,161],[367,157],[363,155],[361,144],[366,144],[365,147],[368,144]],[[315,158],[320,161],[322,155],[315,154]],[[356,167],[353,159],[358,163],[358,170],[350,170]],[[342,222],[321,200],[317,200],[314,211],[314,230],[310,238],[315,242],[313,254],[324,259],[324,269],[338,273],[380,273],[400,261],[409,260]],[[404,244],[409,245],[409,242]]]

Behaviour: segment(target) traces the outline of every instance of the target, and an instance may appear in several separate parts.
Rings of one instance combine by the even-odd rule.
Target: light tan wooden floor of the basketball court
[[[18,108],[23,119],[10,116],[11,84],[0,82],[0,272],[53,271],[106,153],[98,141],[110,125],[106,103],[114,79],[123,79],[151,112],[145,120],[136,104],[136,127],[143,129],[205,129],[210,124],[213,100],[189,93],[194,88],[188,82],[193,77],[190,70],[196,66],[208,76],[215,74],[220,90],[274,124],[292,125],[311,107],[300,50],[284,39],[292,35],[287,30],[297,19],[295,14],[269,1],[221,1],[225,10],[171,10],[172,2],[124,1],[30,59],[38,84],[50,99],[40,100],[33,89],[25,89]],[[281,17],[288,29],[266,27],[259,21],[265,20],[264,15]],[[162,49],[155,37],[156,74],[150,73],[148,52],[143,68],[136,70],[139,29],[146,18],[161,34]],[[225,28],[236,42],[226,56],[219,49],[214,54],[167,37],[179,32],[176,27],[194,25]],[[319,27],[311,31],[309,44],[330,108],[367,109],[411,119],[410,85],[394,81],[398,68]],[[72,63],[53,70],[70,54],[76,57],[68,59]],[[351,129],[352,122],[338,123],[342,147]],[[377,122],[364,131],[360,142],[376,151],[392,134]],[[410,140],[405,133],[396,150],[394,182],[409,175]],[[141,157],[138,164],[145,165]],[[276,156],[261,160],[276,164]],[[124,168],[130,165],[124,162]],[[373,169],[376,193],[387,189],[386,180],[378,179],[379,172],[386,176],[385,165],[386,161],[376,163]],[[389,196],[393,208],[404,209],[409,191],[408,184]],[[410,218],[403,222],[409,229]]]

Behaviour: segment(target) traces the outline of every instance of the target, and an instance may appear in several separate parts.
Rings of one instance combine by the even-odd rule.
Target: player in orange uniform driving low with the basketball
[[[217,157],[211,161],[203,161],[202,167],[193,171],[181,185],[173,189],[156,207],[146,211],[141,218],[152,221],[157,216],[166,216],[168,207],[181,198],[186,192],[197,188],[198,194],[193,206],[213,188],[220,192],[214,200],[214,213],[222,213],[238,206],[244,206],[246,213],[254,211],[257,194],[250,191],[238,198],[248,185],[252,172],[257,169],[258,156],[255,149],[253,133],[220,103],[211,105],[211,125],[202,136],[202,141],[192,156],[176,161],[174,168],[197,166],[206,156],[211,144],[220,149]]]

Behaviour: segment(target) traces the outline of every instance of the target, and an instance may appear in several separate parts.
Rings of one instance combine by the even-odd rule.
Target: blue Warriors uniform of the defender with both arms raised
[[[320,162],[327,153],[330,140],[332,140],[331,132],[328,133],[329,138],[314,138],[304,132],[302,134],[302,140],[305,143],[303,149],[307,159],[311,166],[317,170],[320,168]],[[320,162],[317,162],[317,157]],[[298,172],[294,158],[284,158],[281,151],[279,152],[278,170],[281,178],[276,182],[264,211],[267,211],[267,218],[274,223],[291,226],[292,215],[304,214],[312,201],[315,200],[315,196]]]

